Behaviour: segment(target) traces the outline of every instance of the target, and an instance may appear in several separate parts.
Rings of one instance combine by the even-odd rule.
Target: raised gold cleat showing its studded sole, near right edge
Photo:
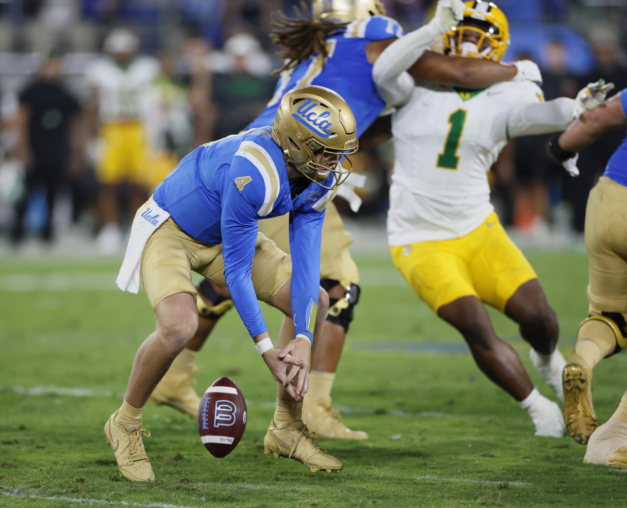
[[[571,437],[585,445],[597,428],[592,405],[592,369],[574,351],[562,373],[564,423]]]

